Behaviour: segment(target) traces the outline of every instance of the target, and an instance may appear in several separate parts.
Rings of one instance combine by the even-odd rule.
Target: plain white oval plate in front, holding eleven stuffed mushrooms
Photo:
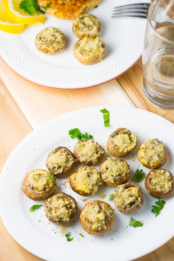
[[[142,208],[133,214],[122,214],[113,201],[109,200],[110,194],[115,189],[102,185],[94,196],[87,197],[87,201],[98,199],[103,193],[103,199],[114,209],[115,222],[112,229],[104,235],[88,235],[79,224],[79,214],[84,206],[83,196],[73,192],[68,183],[69,178],[57,179],[57,192],[65,192],[72,195],[78,203],[78,214],[73,224],[66,227],[70,231],[73,241],[67,242],[61,228],[50,223],[41,207],[30,212],[34,202],[22,192],[21,182],[25,175],[35,169],[44,168],[45,161],[50,151],[57,146],[67,146],[73,151],[76,139],[71,139],[68,131],[79,128],[81,133],[87,132],[93,135],[93,139],[106,149],[108,136],[118,127],[126,127],[137,137],[137,148],[149,138],[158,138],[164,142],[168,150],[168,160],[163,168],[173,173],[174,169],[174,125],[166,119],[137,108],[121,106],[106,106],[110,111],[110,127],[104,127],[103,115],[99,111],[105,106],[97,106],[76,110],[55,119],[37,128],[30,133],[14,149],[3,167],[0,175],[0,213],[1,218],[12,237],[31,253],[51,261],[56,260],[112,260],[115,256],[119,261],[128,261],[145,255],[160,247],[174,235],[174,197],[166,199],[166,204],[155,217],[151,212],[156,199],[151,197],[145,187],[144,181],[140,182],[143,189],[144,204]],[[149,170],[139,164],[137,160],[137,148],[126,161],[131,168],[132,181],[137,167],[147,174]],[[99,168],[99,166],[97,166]],[[133,217],[143,222],[142,227],[129,226]],[[84,235],[82,238],[79,233]],[[88,251],[90,251],[88,253]]]

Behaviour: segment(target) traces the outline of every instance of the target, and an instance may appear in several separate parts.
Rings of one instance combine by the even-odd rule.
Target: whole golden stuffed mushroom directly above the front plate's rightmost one
[[[168,152],[159,139],[148,139],[137,151],[139,162],[146,168],[161,168],[167,161]]]

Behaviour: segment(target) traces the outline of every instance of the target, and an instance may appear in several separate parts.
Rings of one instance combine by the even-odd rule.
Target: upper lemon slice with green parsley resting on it
[[[45,21],[46,16],[43,13],[36,11],[35,14],[28,14],[19,8],[21,1],[22,0],[5,0],[5,8],[9,17],[18,23],[29,25],[43,23]]]

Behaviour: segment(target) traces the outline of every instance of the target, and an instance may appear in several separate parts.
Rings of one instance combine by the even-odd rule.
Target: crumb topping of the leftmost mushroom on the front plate
[[[51,187],[54,182],[46,176],[46,173],[48,172],[43,172],[41,170],[34,170],[28,173],[27,181],[31,188],[42,191]]]

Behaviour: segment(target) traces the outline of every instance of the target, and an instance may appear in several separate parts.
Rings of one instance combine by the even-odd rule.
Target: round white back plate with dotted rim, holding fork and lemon
[[[132,3],[140,2],[133,0]],[[123,0],[122,4],[130,3]],[[103,61],[87,66],[73,55],[78,40],[73,34],[73,20],[62,20],[50,15],[44,24],[27,26],[19,35],[0,31],[0,55],[19,75],[40,85],[78,89],[95,86],[122,75],[142,55],[146,19],[111,18],[113,7],[120,1],[101,0],[89,13],[98,17],[102,25],[101,38],[106,43]],[[35,37],[48,26],[59,28],[66,37],[66,49],[57,55],[46,55],[35,46]]]

